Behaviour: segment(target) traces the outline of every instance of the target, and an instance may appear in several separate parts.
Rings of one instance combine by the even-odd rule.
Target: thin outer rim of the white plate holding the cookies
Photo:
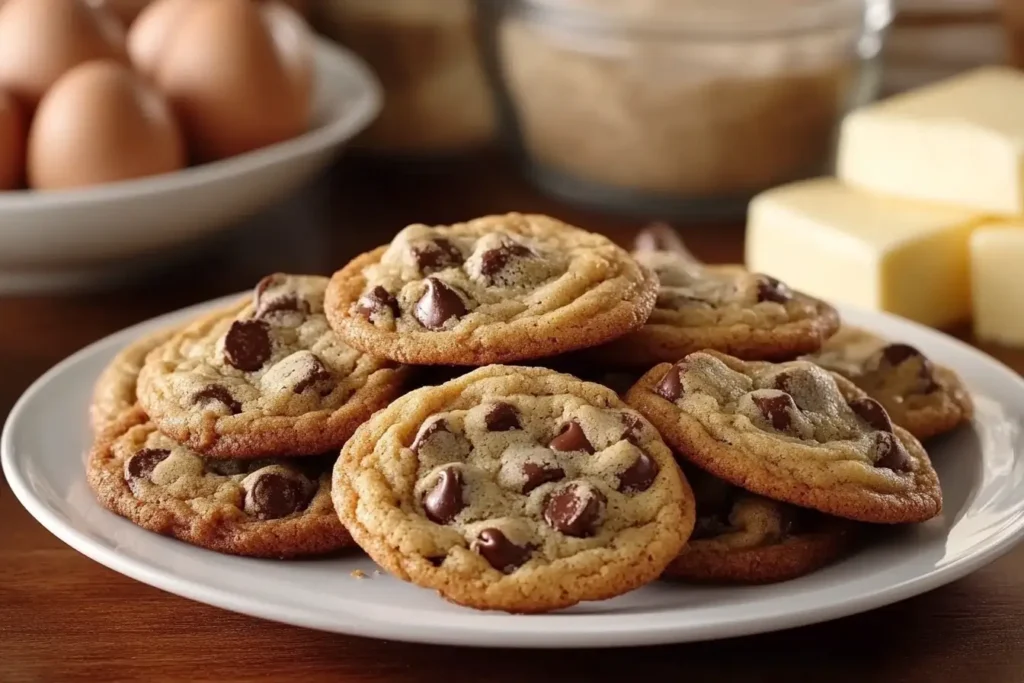
[[[926,574],[919,574],[916,578],[906,579],[896,584],[886,585],[876,588],[869,592],[845,598],[844,600],[822,606],[820,603],[810,603],[797,605],[793,610],[766,617],[762,621],[753,618],[736,622],[722,621],[709,625],[690,625],[681,627],[677,624],[650,625],[645,629],[629,628],[624,630],[605,629],[603,631],[589,630],[568,630],[557,638],[552,637],[549,631],[515,631],[512,642],[502,641],[500,637],[503,633],[501,627],[492,628],[486,626],[486,618],[480,620],[479,625],[445,625],[443,629],[436,628],[436,625],[418,625],[416,623],[401,623],[394,620],[379,620],[367,615],[366,618],[358,618],[348,612],[336,613],[336,618],[327,620],[319,613],[305,610],[301,607],[290,606],[281,601],[254,602],[251,598],[232,594],[229,591],[217,587],[202,584],[187,578],[181,578],[170,569],[145,563],[132,557],[126,557],[117,552],[115,548],[89,538],[86,533],[74,528],[70,523],[60,519],[59,515],[52,510],[45,501],[39,499],[30,488],[23,478],[20,468],[14,466],[13,433],[15,424],[19,417],[27,410],[27,405],[32,401],[35,394],[41,391],[47,384],[61,375],[67,369],[77,365],[82,358],[95,352],[97,347],[108,345],[118,345],[128,343],[131,339],[138,337],[145,330],[160,325],[166,325],[170,319],[182,318],[190,314],[202,312],[209,308],[229,303],[238,300],[239,297],[246,296],[246,292],[238,292],[216,299],[185,306],[174,311],[170,311],[139,323],[129,326],[113,334],[98,339],[78,351],[72,353],[63,360],[55,364],[37,380],[35,380],[22,396],[15,401],[10,410],[10,414],[0,433],[0,466],[2,466],[4,476],[17,501],[26,508],[44,528],[55,536],[61,542],[69,545],[77,552],[89,557],[95,562],[122,573],[130,579],[147,584],[154,588],[183,597],[196,600],[221,609],[227,609],[257,618],[275,621],[291,626],[301,628],[311,628],[332,633],[341,633],[352,636],[378,638],[386,640],[398,640],[412,643],[440,644],[440,645],[461,645],[473,647],[499,647],[499,648],[544,648],[544,649],[565,649],[574,647],[631,647],[641,645],[658,645],[669,643],[711,641],[721,638],[731,638],[760,633],[770,633],[779,630],[808,626],[811,624],[823,623],[841,618],[851,614],[869,611],[881,606],[905,600],[907,598],[921,595],[946,585],[985,566],[1010,552],[1018,543],[1024,540],[1024,517],[1019,517],[1015,523],[1005,525],[1002,528],[991,532],[984,547],[968,555],[956,558],[948,564],[937,567]],[[1016,371],[977,349],[970,344],[951,337],[943,332],[928,328],[912,321],[886,313],[884,311],[866,311],[853,306],[840,306],[841,314],[847,311],[854,313],[854,317],[878,316],[881,319],[894,323],[898,326],[909,326],[916,332],[926,335],[939,335],[945,342],[952,342],[959,350],[966,351],[975,356],[975,360],[988,365],[990,369],[1006,375],[1006,379],[1017,385],[1017,390],[1024,395],[1024,378]],[[144,529],[139,529],[145,532]],[[267,616],[267,607],[272,606],[273,616]],[[488,612],[479,612],[478,615],[486,616]],[[536,620],[541,617],[555,617],[565,623],[568,620],[588,618],[592,614],[548,614],[534,616],[518,616],[524,620],[523,624],[531,623],[525,620]],[[606,624],[602,626],[607,626]]]

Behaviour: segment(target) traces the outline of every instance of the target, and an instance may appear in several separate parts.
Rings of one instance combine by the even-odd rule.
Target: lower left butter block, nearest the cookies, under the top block
[[[971,310],[968,238],[982,215],[818,178],[750,206],[746,264],[829,302],[941,327]]]

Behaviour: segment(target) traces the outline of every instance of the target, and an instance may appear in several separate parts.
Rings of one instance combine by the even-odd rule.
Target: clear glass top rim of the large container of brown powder
[[[512,0],[536,20],[599,31],[751,37],[859,26],[881,30],[891,0]]]

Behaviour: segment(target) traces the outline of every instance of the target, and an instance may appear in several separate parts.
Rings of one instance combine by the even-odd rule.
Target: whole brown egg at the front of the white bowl
[[[29,132],[29,185],[81,187],[176,171],[181,132],[164,96],[114,60],[90,61],[58,80]]]

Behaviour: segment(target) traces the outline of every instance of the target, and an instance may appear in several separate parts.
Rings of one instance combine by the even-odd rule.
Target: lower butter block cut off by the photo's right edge
[[[980,225],[970,251],[974,334],[1024,346],[1024,223]]]

